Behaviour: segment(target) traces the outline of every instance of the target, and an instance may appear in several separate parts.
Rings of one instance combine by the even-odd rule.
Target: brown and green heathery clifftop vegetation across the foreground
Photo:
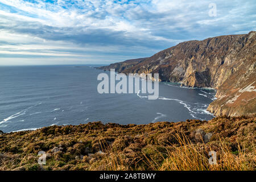
[[[255,129],[255,117],[218,117],[0,134],[0,170],[255,170]],[[46,165],[38,164],[39,151]],[[217,164],[209,164],[210,151]]]

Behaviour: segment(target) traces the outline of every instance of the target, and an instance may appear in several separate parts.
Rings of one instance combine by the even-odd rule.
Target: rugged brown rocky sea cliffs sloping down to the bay
[[[160,81],[217,89],[208,110],[215,115],[256,113],[256,32],[177,44],[146,59],[128,60],[101,69],[122,73],[159,73]]]

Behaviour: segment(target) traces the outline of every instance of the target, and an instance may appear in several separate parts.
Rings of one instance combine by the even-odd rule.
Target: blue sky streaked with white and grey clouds
[[[255,30],[255,0],[0,0],[0,65],[110,64]]]

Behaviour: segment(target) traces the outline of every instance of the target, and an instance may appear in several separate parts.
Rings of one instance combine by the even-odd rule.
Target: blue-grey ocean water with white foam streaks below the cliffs
[[[99,65],[84,66],[0,67],[0,130],[8,133],[93,121],[126,125],[213,118],[206,109],[214,100],[214,89],[160,82],[157,100],[141,93],[100,94],[97,76],[104,71],[94,68]]]

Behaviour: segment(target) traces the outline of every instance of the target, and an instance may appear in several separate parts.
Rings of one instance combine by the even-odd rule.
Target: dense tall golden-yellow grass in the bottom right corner
[[[168,156],[163,165],[158,168],[159,170],[239,171],[255,168],[255,147],[249,156],[241,148],[238,149],[238,154],[235,155],[226,142],[220,139],[216,151],[217,164],[210,164],[208,154],[209,151],[214,151],[211,146],[193,144],[185,135],[183,135],[183,138],[177,135],[177,138],[181,147],[175,147],[174,150],[168,151]]]

